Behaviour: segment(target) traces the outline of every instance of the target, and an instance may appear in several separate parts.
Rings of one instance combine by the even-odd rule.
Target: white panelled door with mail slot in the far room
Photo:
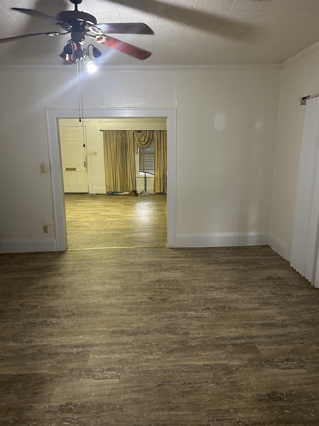
[[[88,188],[85,127],[60,126],[64,192],[84,192]]]

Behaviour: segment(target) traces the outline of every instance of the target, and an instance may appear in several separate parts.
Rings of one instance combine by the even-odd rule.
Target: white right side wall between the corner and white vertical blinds
[[[271,211],[270,244],[291,259],[305,106],[300,98],[319,93],[319,43],[284,64]]]

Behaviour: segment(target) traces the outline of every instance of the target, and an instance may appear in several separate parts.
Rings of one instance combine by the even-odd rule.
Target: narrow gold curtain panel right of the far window
[[[167,131],[154,130],[154,192],[166,192]]]

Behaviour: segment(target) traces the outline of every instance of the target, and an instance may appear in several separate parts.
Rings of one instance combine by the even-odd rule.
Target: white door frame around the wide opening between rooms
[[[167,246],[176,247],[176,107],[172,108],[88,108],[85,118],[167,118]],[[59,118],[78,118],[78,109],[45,108],[56,250],[67,249],[67,228],[63,169],[59,141]]]

